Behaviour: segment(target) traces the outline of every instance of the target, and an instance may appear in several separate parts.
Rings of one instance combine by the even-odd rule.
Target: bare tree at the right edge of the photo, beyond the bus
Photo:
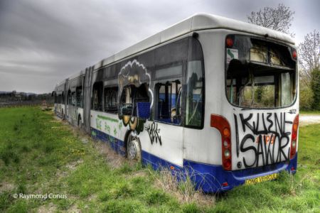
[[[320,64],[320,35],[314,30],[304,36],[304,42],[299,44],[299,65],[304,83],[311,82],[311,72],[319,69]]]

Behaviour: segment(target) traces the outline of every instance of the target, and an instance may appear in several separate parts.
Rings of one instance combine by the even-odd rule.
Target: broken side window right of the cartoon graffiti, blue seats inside
[[[156,120],[171,124],[181,123],[181,94],[179,80],[156,84]]]

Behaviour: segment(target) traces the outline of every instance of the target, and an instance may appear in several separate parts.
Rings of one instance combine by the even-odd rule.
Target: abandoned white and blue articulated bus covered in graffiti
[[[119,154],[204,192],[297,170],[297,51],[288,35],[198,14],[55,87],[55,111]]]

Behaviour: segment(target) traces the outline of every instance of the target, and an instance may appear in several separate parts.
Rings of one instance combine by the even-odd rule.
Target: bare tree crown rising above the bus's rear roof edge
[[[260,9],[260,11],[252,11],[250,16],[247,16],[247,19],[250,23],[287,33],[294,37],[294,33],[289,31],[294,19],[294,11],[291,11],[284,4],[279,4],[277,8],[267,6],[262,10]]]

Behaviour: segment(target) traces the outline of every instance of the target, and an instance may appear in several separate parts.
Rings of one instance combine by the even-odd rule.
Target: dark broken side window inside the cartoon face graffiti
[[[123,87],[120,99],[120,113],[122,115],[137,116],[138,103],[149,102],[149,85],[144,83],[139,87],[127,85]]]

